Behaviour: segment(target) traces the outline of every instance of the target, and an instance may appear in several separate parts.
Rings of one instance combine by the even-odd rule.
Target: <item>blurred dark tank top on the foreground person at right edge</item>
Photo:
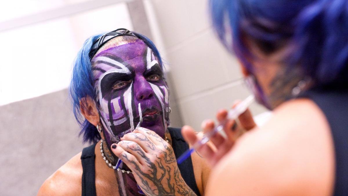
[[[348,90],[313,89],[300,97],[313,100],[329,122],[335,148],[334,195],[348,195]]]

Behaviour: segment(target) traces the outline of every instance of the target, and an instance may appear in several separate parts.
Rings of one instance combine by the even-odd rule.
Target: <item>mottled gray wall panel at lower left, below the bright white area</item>
[[[68,91],[0,106],[0,193],[36,195],[83,148]]]

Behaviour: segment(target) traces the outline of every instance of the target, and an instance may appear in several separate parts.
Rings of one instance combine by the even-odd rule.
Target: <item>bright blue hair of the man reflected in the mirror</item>
[[[161,56],[155,44],[153,44],[153,42],[146,36],[141,35],[140,33],[133,33],[151,48],[157,56],[160,66],[163,67]],[[83,136],[83,142],[88,143],[97,142],[101,137],[97,128],[81,115],[80,101],[86,101],[86,99],[82,98],[87,97],[90,97],[95,101],[97,100],[96,90],[94,89],[93,84],[92,63],[89,59],[89,52],[93,42],[102,35],[103,34],[89,37],[82,45],[73,63],[72,78],[69,88],[74,116],[82,128],[79,135]],[[85,106],[86,102],[82,102],[81,107]]]

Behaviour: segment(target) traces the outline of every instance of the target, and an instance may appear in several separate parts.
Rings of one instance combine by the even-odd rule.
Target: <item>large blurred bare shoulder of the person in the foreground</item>
[[[313,101],[296,99],[237,141],[212,173],[208,184],[215,193],[209,187],[208,193],[227,195],[223,187],[228,185],[237,195],[330,195],[333,179],[334,149],[325,115]]]

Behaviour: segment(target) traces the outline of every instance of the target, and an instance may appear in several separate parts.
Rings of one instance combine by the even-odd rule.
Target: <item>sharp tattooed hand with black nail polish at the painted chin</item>
[[[172,146],[155,132],[136,129],[121,137],[112,152],[132,170],[146,195],[196,195],[182,179]]]

